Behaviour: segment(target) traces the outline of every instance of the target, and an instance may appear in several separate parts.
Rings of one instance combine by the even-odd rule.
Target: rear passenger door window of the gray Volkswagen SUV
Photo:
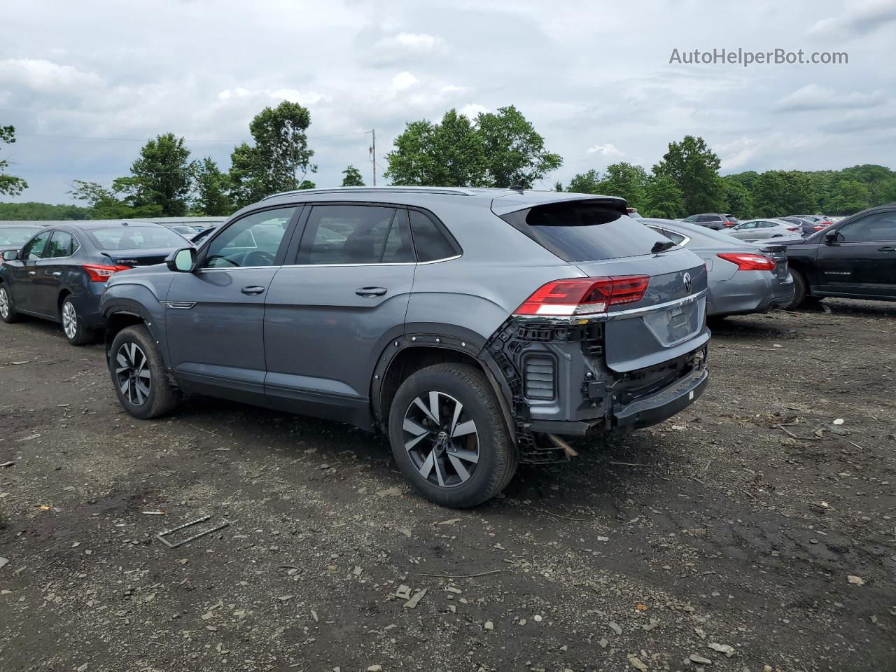
[[[297,263],[414,261],[405,211],[368,205],[315,205]]]

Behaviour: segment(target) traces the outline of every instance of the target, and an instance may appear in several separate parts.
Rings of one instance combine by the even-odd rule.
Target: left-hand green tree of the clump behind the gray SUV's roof
[[[487,185],[482,138],[470,119],[454,108],[439,124],[409,122],[386,160],[385,177],[394,185]]]

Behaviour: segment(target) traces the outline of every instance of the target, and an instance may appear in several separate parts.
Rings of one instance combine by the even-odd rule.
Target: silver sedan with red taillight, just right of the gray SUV
[[[706,313],[715,317],[768,313],[793,298],[793,278],[783,246],[740,243],[728,233],[671,220],[638,220],[706,262]]]

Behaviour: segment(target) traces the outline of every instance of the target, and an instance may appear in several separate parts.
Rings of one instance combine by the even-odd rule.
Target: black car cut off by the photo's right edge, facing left
[[[778,241],[776,241],[778,242]],[[791,308],[807,298],[896,301],[896,203],[858,212],[803,240],[784,240]]]

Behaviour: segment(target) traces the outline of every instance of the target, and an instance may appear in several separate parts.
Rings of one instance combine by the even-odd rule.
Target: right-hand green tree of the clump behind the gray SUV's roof
[[[476,123],[491,186],[531,189],[537,180],[563,165],[560,155],[545,149],[545,139],[513,105],[481,112]]]

